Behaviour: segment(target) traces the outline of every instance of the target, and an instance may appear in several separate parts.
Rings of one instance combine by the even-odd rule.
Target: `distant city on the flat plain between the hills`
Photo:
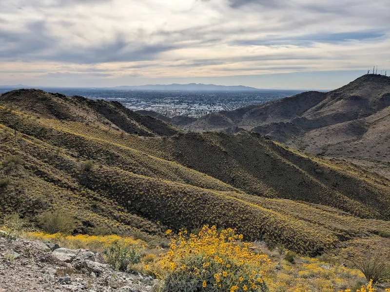
[[[14,88],[1,88],[0,93]],[[41,88],[68,96],[81,95],[91,99],[115,100],[131,110],[153,110],[168,117],[183,115],[201,117],[220,111],[258,105],[297,94],[294,90],[258,91],[147,91],[80,88]]]

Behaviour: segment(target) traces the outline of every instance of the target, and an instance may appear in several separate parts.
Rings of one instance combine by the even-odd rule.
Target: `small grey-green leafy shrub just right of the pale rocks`
[[[107,263],[119,271],[126,271],[128,265],[137,264],[141,259],[141,254],[136,250],[123,247],[118,242],[104,250],[103,255]]]

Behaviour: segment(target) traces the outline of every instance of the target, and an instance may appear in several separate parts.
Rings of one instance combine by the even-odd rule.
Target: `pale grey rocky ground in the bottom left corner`
[[[155,284],[148,275],[114,271],[98,253],[0,232],[0,292],[150,292]]]

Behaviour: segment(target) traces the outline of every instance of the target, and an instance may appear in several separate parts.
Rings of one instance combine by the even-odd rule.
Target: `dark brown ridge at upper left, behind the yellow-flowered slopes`
[[[177,133],[177,129],[172,125],[151,116],[137,114],[115,101],[21,89],[0,95],[0,102],[39,117],[93,123],[97,126],[121,129],[129,134],[155,136]]]

